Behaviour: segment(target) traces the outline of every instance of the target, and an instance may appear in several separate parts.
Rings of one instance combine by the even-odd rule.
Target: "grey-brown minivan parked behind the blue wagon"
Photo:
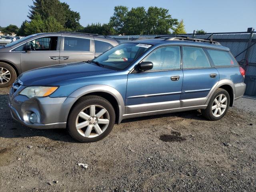
[[[73,32],[40,33],[0,47],[0,87],[10,86],[22,72],[55,64],[88,61],[118,45],[107,36]]]

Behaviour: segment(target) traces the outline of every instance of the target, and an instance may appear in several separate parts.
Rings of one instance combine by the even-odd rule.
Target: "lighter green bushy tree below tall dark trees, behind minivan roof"
[[[25,23],[25,34],[35,34],[42,32],[58,32],[65,30],[64,27],[52,16],[43,20],[40,15],[36,14],[30,22]]]

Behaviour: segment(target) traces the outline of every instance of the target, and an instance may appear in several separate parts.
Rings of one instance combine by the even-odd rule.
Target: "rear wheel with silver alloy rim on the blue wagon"
[[[224,89],[218,88],[212,95],[206,109],[201,109],[202,116],[211,121],[220,120],[228,111],[230,96]]]

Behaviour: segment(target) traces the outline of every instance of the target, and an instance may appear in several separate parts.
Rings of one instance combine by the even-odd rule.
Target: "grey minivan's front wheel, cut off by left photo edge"
[[[12,85],[16,78],[17,74],[14,68],[7,63],[0,62],[0,88]]]

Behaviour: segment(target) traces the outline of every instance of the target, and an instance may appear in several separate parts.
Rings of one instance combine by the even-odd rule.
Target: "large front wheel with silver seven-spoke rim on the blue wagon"
[[[67,129],[80,142],[96,142],[105,138],[114,127],[116,115],[108,100],[85,96],[72,108]]]

